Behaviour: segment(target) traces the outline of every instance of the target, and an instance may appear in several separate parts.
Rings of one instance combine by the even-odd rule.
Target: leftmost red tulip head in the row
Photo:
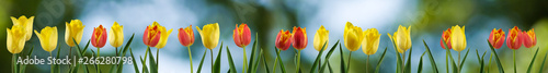
[[[106,29],[103,25],[99,25],[93,29],[93,35],[91,35],[91,45],[96,48],[102,48],[106,44]]]

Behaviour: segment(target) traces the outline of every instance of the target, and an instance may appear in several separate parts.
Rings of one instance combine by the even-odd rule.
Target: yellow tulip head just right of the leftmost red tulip
[[[111,42],[112,47],[121,47],[124,44],[124,26],[121,26],[117,22],[114,22],[109,32],[109,42]]]

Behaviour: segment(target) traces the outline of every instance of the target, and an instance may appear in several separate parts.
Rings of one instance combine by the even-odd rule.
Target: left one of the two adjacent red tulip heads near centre
[[[293,36],[292,33],[289,33],[289,31],[285,31],[282,29],[279,31],[279,33],[277,33],[277,36],[276,36],[276,48],[277,49],[282,49],[282,50],[287,50],[289,49],[289,46],[292,46],[292,42],[293,42],[293,39],[290,39],[290,37]]]

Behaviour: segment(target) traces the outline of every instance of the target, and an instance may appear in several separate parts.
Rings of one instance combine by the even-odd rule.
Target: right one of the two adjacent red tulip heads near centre
[[[297,50],[302,50],[308,45],[307,28],[293,27],[293,47]]]

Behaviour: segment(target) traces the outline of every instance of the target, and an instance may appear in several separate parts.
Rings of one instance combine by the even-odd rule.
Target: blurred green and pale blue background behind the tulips
[[[42,29],[45,26],[57,26],[59,31],[58,47],[62,48],[61,56],[68,54],[68,46],[64,40],[65,22],[70,20],[81,20],[84,28],[82,44],[88,41],[93,32],[93,27],[100,24],[107,29],[114,22],[124,25],[125,41],[133,33],[135,38],[130,46],[137,56],[144,56],[146,46],[140,38],[147,25],[157,21],[162,26],[173,28],[175,32],[170,34],[168,45],[160,49],[159,69],[162,73],[189,72],[189,56],[186,48],[176,40],[176,29],[189,25],[202,27],[208,23],[219,23],[221,29],[220,41],[231,49],[238,72],[241,72],[242,49],[239,49],[232,40],[232,29],[235,24],[246,23],[250,26],[252,39],[258,38],[259,47],[265,51],[266,60],[272,69],[274,63],[274,39],[279,29],[292,29],[293,26],[307,27],[309,38],[308,47],[302,50],[301,64],[304,72],[309,72],[313,59],[318,51],[313,50],[313,34],[324,25],[330,31],[330,45],[336,40],[342,41],[342,33],[345,22],[352,22],[362,28],[377,28],[383,34],[380,38],[379,50],[370,58],[369,70],[377,65],[377,61],[384,48],[388,48],[386,59],[380,66],[383,73],[392,73],[396,68],[396,56],[392,44],[386,33],[392,34],[398,25],[412,26],[411,38],[413,42],[412,66],[418,66],[419,58],[425,51],[422,40],[430,46],[437,69],[445,72],[445,50],[439,47],[442,31],[454,25],[466,26],[466,36],[470,50],[486,52],[483,60],[489,60],[489,46],[486,42],[493,28],[502,28],[507,34],[507,29],[518,26],[528,31],[535,28],[538,44],[534,49],[524,48],[517,50],[517,70],[525,72],[533,58],[535,48],[540,48],[535,61],[533,72],[539,69],[546,51],[548,51],[548,0],[1,0],[0,1],[0,28],[11,28],[13,23],[10,16],[19,17],[21,15],[36,16],[34,20],[34,29]],[[202,45],[201,37],[196,28],[196,41],[192,46],[194,68],[203,54],[205,48]],[[5,46],[5,29],[0,29],[0,45]],[[106,44],[102,56],[114,56],[114,48]],[[33,54],[38,58],[48,57],[48,52],[43,51],[39,40],[33,34],[25,48],[34,46]],[[80,45],[83,46],[83,45]],[[219,46],[218,46],[219,47]],[[217,47],[217,48],[218,48]],[[5,47],[1,47],[5,49]],[[249,47],[248,47],[249,48]],[[290,48],[293,49],[293,48]],[[54,53],[57,52],[56,49]],[[91,49],[96,50],[96,49]],[[30,49],[24,49],[27,52]],[[214,52],[217,52],[215,49]],[[251,49],[247,49],[248,58]],[[344,49],[344,59],[349,59],[349,50]],[[91,51],[88,50],[90,53]],[[293,50],[282,51],[282,58],[286,70],[294,71]],[[505,44],[501,49],[496,49],[505,72],[513,72],[512,50]],[[457,53],[453,51],[453,56]],[[470,51],[463,71],[475,73],[479,71],[479,63]],[[215,53],[216,56],[217,53]],[[225,56],[226,53],[222,53]],[[90,56],[90,54],[88,54]],[[461,54],[465,56],[465,54]],[[207,54],[204,62],[205,72],[209,70]],[[361,50],[353,53],[351,61],[352,73],[365,72],[366,56]],[[11,53],[8,50],[0,50],[0,70],[10,71]],[[339,52],[335,51],[330,59],[332,64],[340,62]],[[221,72],[228,71],[227,58],[222,57]],[[323,61],[323,60],[322,60]],[[424,72],[431,73],[430,61],[424,60]],[[139,64],[140,66],[140,64]],[[262,64],[260,65],[262,66]],[[66,68],[66,66],[65,66]],[[339,68],[339,65],[333,65]],[[494,61],[487,65],[490,72],[498,72]],[[106,69],[106,68],[105,68]],[[339,71],[339,69],[334,69]],[[124,72],[133,72],[133,66],[127,64]],[[196,69],[194,69],[196,71]],[[263,72],[259,68],[259,72]],[[373,71],[373,70],[372,70]],[[49,65],[28,65],[26,72],[49,72]],[[277,69],[276,72],[281,72]],[[416,72],[416,68],[412,68]]]

